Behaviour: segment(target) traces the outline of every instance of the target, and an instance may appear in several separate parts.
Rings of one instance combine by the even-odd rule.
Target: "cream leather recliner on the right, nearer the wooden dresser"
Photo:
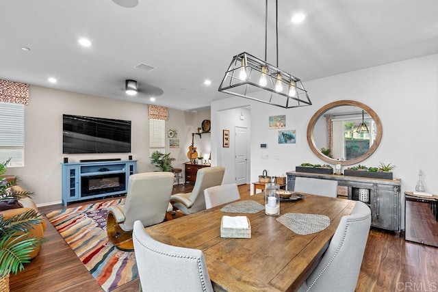
[[[196,173],[196,181],[191,193],[175,194],[170,196],[170,203],[185,215],[205,210],[204,189],[214,187],[222,183],[225,168],[223,166],[212,166],[201,168]]]

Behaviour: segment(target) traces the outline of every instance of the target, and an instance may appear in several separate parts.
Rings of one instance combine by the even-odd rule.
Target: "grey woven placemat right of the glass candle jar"
[[[276,218],[276,221],[299,235],[318,233],[330,225],[330,218],[326,215],[302,213],[285,213]]]

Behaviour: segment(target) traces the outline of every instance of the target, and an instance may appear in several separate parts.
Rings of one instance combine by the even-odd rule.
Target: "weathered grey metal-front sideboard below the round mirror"
[[[359,200],[359,191],[368,189],[369,200],[365,202],[371,209],[371,226],[400,232],[400,186],[401,180],[365,178],[335,174],[312,174],[307,172],[287,172],[287,189],[293,191],[297,176],[321,178],[337,181],[339,189],[346,189],[349,200]]]

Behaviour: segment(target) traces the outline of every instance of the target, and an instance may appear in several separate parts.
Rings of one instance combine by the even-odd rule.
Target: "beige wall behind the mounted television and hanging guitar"
[[[8,168],[6,174],[18,175],[20,184],[29,191],[34,191],[37,204],[61,202],[61,165],[63,157],[70,162],[81,159],[128,159],[132,155],[138,160],[138,172],[156,170],[149,160],[149,120],[148,106],[112,98],[88,96],[73,92],[64,92],[50,88],[30,86],[29,105],[25,107],[25,167]],[[131,153],[115,154],[62,154],[62,114],[97,116],[131,120]],[[209,111],[203,113],[209,115]],[[167,149],[176,163],[182,165],[187,161],[188,140],[191,142],[196,113],[169,109],[166,129],[178,128],[180,148]],[[174,165],[177,167],[176,165]]]

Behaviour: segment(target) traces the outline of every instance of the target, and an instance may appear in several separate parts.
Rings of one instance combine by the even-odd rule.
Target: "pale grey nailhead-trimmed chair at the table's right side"
[[[371,210],[357,201],[337,226],[320,263],[298,291],[355,291],[371,225]]]

